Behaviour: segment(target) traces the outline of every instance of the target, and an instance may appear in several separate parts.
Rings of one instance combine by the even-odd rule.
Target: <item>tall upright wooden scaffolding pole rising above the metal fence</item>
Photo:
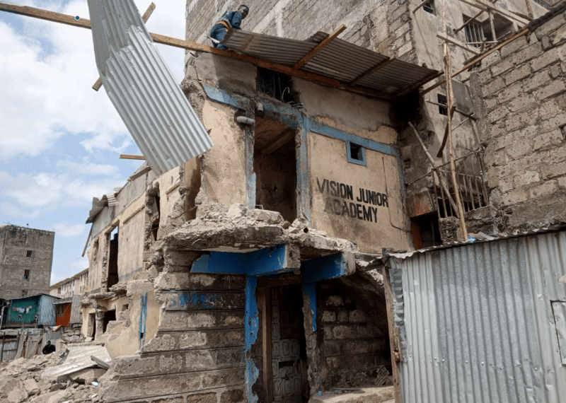
[[[446,35],[446,1],[442,2],[442,30],[444,35]],[[466,218],[464,217],[464,210],[462,206],[462,200],[460,198],[460,192],[458,191],[458,181],[456,180],[456,164],[454,163],[454,144],[452,144],[452,105],[454,104],[454,93],[452,92],[452,57],[450,54],[450,49],[448,42],[444,41],[444,76],[446,77],[446,105],[449,110],[448,114],[448,146],[450,155],[450,171],[452,174],[452,185],[454,186],[454,196],[456,197],[456,206],[458,207],[458,214],[460,215],[460,224],[462,229],[462,239],[463,241],[468,240],[468,228],[466,228]]]

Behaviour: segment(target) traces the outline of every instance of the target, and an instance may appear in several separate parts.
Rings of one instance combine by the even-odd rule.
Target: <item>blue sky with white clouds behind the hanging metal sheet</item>
[[[88,18],[86,0],[8,1]],[[185,1],[154,0],[148,30],[183,39]],[[156,47],[180,83],[185,51]],[[91,30],[0,11],[0,225],[55,231],[51,284],[88,267],[93,197],[141,165],[119,159],[141,152],[97,78]]]

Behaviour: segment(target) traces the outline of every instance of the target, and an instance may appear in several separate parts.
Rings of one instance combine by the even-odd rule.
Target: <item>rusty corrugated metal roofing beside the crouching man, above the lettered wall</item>
[[[293,40],[243,30],[230,30],[222,44],[249,56],[285,66],[294,66],[327,36],[326,33],[318,32],[308,40]],[[301,69],[320,76],[335,78],[343,83],[350,83],[386,59],[387,57],[383,54],[353,45],[345,40],[335,39],[323,47]],[[396,93],[436,72],[395,59],[359,81],[358,85],[385,93]]]

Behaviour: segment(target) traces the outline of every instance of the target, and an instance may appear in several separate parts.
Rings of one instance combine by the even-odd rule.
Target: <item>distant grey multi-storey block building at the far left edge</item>
[[[0,227],[0,298],[49,293],[54,240],[52,231]]]

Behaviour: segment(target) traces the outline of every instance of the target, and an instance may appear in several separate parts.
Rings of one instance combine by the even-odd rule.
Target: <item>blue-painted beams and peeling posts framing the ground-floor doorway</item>
[[[203,255],[192,264],[191,273],[212,274],[246,274],[246,346],[243,354],[246,357],[246,392],[248,403],[258,402],[253,395],[252,386],[260,370],[251,358],[248,358],[253,344],[258,339],[260,324],[258,301],[255,298],[255,289],[258,286],[259,276],[277,276],[289,273],[296,268],[288,267],[287,245],[278,245],[256,250],[249,253],[210,252]],[[352,262],[344,253],[319,257],[317,259],[301,262],[303,275],[303,289],[308,293],[313,312],[313,330],[316,331],[316,283],[318,281],[335,279],[352,274]]]

